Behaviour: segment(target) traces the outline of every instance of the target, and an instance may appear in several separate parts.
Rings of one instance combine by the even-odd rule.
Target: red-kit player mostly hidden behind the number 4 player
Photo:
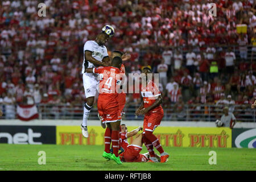
[[[111,53],[110,60],[113,60],[114,57],[121,57],[122,61],[126,61],[126,60],[130,59],[131,55],[116,50]],[[120,72],[125,74],[125,65],[123,65],[123,64],[121,65]],[[120,86],[120,89],[122,89],[122,85]],[[121,93],[119,93],[117,96],[117,101],[119,104],[119,111],[122,114],[123,107],[125,107],[125,102],[126,102],[126,93],[123,91]],[[100,120],[102,120],[102,118],[100,117],[100,114],[98,114],[98,118]],[[106,124],[104,122],[101,122],[101,126],[104,129],[106,128]]]

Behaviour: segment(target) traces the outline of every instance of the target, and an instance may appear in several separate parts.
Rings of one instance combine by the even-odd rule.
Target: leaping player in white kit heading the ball
[[[88,138],[87,120],[89,118],[90,109],[92,109],[96,90],[98,91],[99,81],[97,74],[86,73],[86,68],[94,68],[98,66],[107,67],[110,65],[108,50],[104,44],[114,35],[114,28],[106,25],[102,28],[102,32],[96,36],[95,40],[88,40],[84,44],[84,63],[82,64],[82,81],[86,103],[84,104],[84,115],[82,118],[82,135]]]

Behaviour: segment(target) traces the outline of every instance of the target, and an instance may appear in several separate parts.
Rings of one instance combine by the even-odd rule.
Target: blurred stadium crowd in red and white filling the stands
[[[46,16],[38,4],[46,4]],[[174,104],[250,104],[256,97],[255,1],[3,0],[0,3],[0,104],[81,105],[83,46],[105,24],[109,51],[131,54],[127,73],[159,73],[164,108]],[[217,16],[209,16],[209,3]],[[246,33],[237,25],[246,24]],[[127,94],[127,107],[140,101]],[[195,106],[195,108],[200,108]],[[7,117],[7,118],[8,118]]]

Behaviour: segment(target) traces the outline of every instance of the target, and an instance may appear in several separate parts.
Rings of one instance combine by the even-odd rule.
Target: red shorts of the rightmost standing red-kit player
[[[150,113],[145,114],[143,123],[143,133],[145,131],[153,132],[156,129],[156,127],[160,125],[163,115],[163,109],[156,111],[155,113],[152,113],[152,111],[150,111]]]

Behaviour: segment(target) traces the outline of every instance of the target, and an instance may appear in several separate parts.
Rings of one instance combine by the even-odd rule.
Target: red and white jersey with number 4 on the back
[[[118,94],[116,85],[119,85],[121,81],[119,80],[120,70],[115,67],[97,67],[93,68],[93,73],[101,74],[102,80],[99,85],[100,94]]]

